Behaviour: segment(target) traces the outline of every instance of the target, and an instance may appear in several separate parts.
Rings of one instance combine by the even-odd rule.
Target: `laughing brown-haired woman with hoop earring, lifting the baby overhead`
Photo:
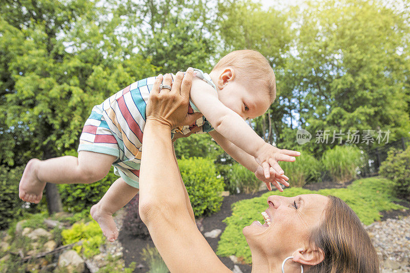
[[[178,72],[171,90],[158,76],[147,106],[139,213],[171,272],[230,272],[203,238],[186,202],[171,129],[189,124],[192,71]],[[171,85],[166,75],[165,85]],[[243,228],[253,272],[379,272],[376,251],[358,217],[336,197],[270,196],[267,223]],[[269,224],[268,222],[271,222]],[[289,259],[286,259],[286,258]]]

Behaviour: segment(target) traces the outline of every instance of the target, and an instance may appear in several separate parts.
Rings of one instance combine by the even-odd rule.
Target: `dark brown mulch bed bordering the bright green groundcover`
[[[318,183],[312,183],[303,186],[303,188],[307,188],[309,190],[317,191],[322,188],[335,188],[335,187],[346,187],[347,185],[350,185],[352,183],[335,183],[335,182],[330,182],[330,181],[323,181],[323,182],[318,182]],[[201,224],[203,226],[203,233],[210,232],[213,229],[221,229],[222,232],[226,227],[226,224],[222,222],[223,219],[231,216],[232,211],[231,211],[231,205],[239,200],[243,199],[250,199],[254,197],[259,197],[264,193],[267,193],[268,191],[261,191],[256,194],[238,194],[238,195],[230,195],[227,197],[224,197],[221,209],[218,213],[211,215],[210,217],[205,217],[202,219]],[[400,202],[401,205],[405,207],[410,207],[410,202]],[[410,209],[407,209],[407,211],[402,211],[402,210],[397,210],[397,211],[389,211],[389,212],[382,212],[383,217],[381,221],[384,221],[388,218],[397,218],[400,216],[408,216],[410,215]],[[212,249],[216,251],[218,247],[218,241],[219,237],[212,239],[212,238],[206,238],[208,243],[211,245]],[[148,272],[148,265],[144,262],[141,261],[141,251],[142,249],[146,248],[147,245],[149,246],[154,246],[151,238],[148,238],[147,240],[135,238],[133,234],[131,234],[127,229],[122,228],[119,233],[118,240],[121,242],[122,247],[124,247],[124,250],[122,251],[124,254],[124,260],[126,266],[129,266],[131,262],[136,262],[137,267],[134,270],[134,272],[142,273],[142,272]],[[218,258],[222,261],[223,264],[225,264],[228,268],[231,270],[234,268],[234,263],[231,261],[230,258],[227,257],[219,257]],[[250,273],[252,271],[252,267],[248,264],[240,264],[238,265],[239,268],[242,270],[243,273]]]

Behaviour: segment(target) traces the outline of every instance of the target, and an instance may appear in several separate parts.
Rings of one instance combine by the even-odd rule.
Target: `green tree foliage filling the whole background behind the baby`
[[[0,164],[22,166],[76,149],[92,106],[109,95],[157,73],[209,71],[222,55],[244,48],[260,51],[276,74],[276,101],[250,122],[266,141],[319,158],[337,143],[297,145],[297,128],[408,136],[408,1],[273,3],[2,1]],[[191,136],[176,150],[179,158],[231,164],[215,145]]]

